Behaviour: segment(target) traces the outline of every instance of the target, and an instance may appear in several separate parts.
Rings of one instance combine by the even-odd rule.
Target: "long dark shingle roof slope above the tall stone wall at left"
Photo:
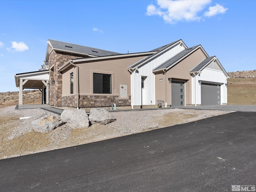
[[[89,54],[94,56],[111,56],[111,55],[120,55],[120,53],[106,51],[56,40],[49,39],[53,49],[65,50],[66,52],[77,52],[81,54]]]

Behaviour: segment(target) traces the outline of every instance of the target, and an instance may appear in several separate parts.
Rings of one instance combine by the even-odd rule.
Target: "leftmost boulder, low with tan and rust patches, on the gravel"
[[[41,133],[49,132],[63,125],[60,116],[45,115],[31,122],[33,130]]]

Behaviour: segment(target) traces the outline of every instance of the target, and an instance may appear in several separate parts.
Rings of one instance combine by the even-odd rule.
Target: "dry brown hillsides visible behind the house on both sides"
[[[256,70],[228,72],[228,104],[256,105]],[[19,92],[0,92],[0,107],[17,105]],[[42,104],[40,90],[24,90],[23,104]]]

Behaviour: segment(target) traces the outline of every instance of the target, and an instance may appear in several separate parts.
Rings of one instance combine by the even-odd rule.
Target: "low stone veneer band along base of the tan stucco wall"
[[[76,96],[63,96],[62,101],[64,107],[76,107]],[[117,95],[88,95],[80,96],[79,107],[105,107],[109,105],[131,106],[131,96],[129,99],[119,99]]]

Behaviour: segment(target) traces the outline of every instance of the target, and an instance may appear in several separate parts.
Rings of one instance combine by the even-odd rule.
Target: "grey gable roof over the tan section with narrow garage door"
[[[173,56],[172,58],[170,58],[166,62],[164,62],[161,65],[154,68],[153,72],[160,71],[160,70],[168,70],[169,68],[171,68],[172,66],[174,66],[175,64],[177,64],[178,62],[180,62],[181,60],[186,58],[188,55],[192,54],[192,52],[194,52],[198,48],[202,48],[202,46],[201,45],[196,45],[196,46],[187,48],[187,49],[179,52],[178,54],[176,54],[175,56]],[[205,54],[206,54],[206,52],[205,52]]]

